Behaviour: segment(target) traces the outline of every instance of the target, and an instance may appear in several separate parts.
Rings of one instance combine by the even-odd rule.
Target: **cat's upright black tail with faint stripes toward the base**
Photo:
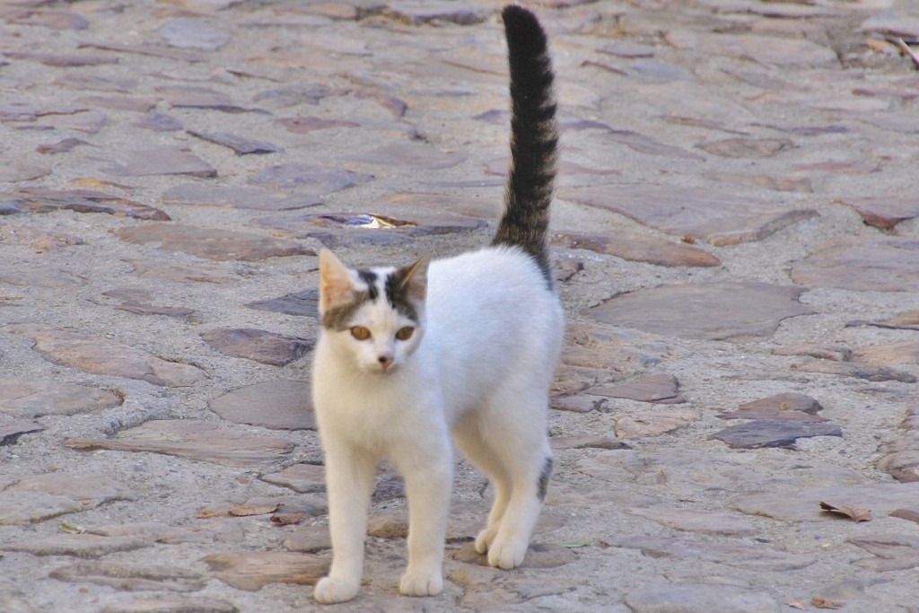
[[[551,287],[549,205],[559,136],[548,41],[527,9],[505,6],[501,16],[511,74],[511,165],[505,213],[492,244],[516,245],[532,255]]]

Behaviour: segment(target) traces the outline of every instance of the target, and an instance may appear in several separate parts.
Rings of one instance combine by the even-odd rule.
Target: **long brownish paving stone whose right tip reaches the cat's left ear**
[[[210,260],[263,260],[287,255],[316,255],[300,243],[230,230],[186,225],[151,224],[121,228],[115,233],[131,244],[155,243],[158,249],[181,251]]]

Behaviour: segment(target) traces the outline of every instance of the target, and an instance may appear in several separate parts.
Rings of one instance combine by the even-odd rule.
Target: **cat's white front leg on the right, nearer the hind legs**
[[[446,433],[437,438],[437,445],[403,451],[395,460],[409,506],[408,568],[399,584],[405,596],[437,596],[444,588],[453,453]]]

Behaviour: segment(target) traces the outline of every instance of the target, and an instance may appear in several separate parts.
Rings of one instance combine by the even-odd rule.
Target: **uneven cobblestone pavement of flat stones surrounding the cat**
[[[398,596],[381,467],[338,609],[919,610],[919,6],[526,4],[569,320],[536,544],[482,566],[460,463],[444,594]],[[315,252],[489,240],[500,6],[0,6],[0,611],[319,608]]]

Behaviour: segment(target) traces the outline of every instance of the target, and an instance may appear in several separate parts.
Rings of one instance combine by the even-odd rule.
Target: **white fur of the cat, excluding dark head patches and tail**
[[[320,255],[320,268],[321,313],[334,306],[327,280],[366,289],[330,252]],[[421,268],[413,282],[424,284]],[[392,270],[374,269],[380,276]],[[368,301],[349,324],[367,327],[370,340],[358,341],[347,330],[323,329],[319,337],[312,389],[333,546],[331,571],[314,590],[319,602],[357,595],[379,460],[400,472],[408,497],[408,568],[400,591],[441,591],[451,435],[494,485],[494,506],[476,549],[501,568],[518,566],[527,552],[542,505],[540,476],[548,478],[546,414],[562,346],[559,299],[529,255],[488,247],[430,263],[418,319],[411,322],[385,300]],[[414,335],[396,340],[406,325],[416,326]],[[387,369],[380,367],[380,352],[391,352]]]

